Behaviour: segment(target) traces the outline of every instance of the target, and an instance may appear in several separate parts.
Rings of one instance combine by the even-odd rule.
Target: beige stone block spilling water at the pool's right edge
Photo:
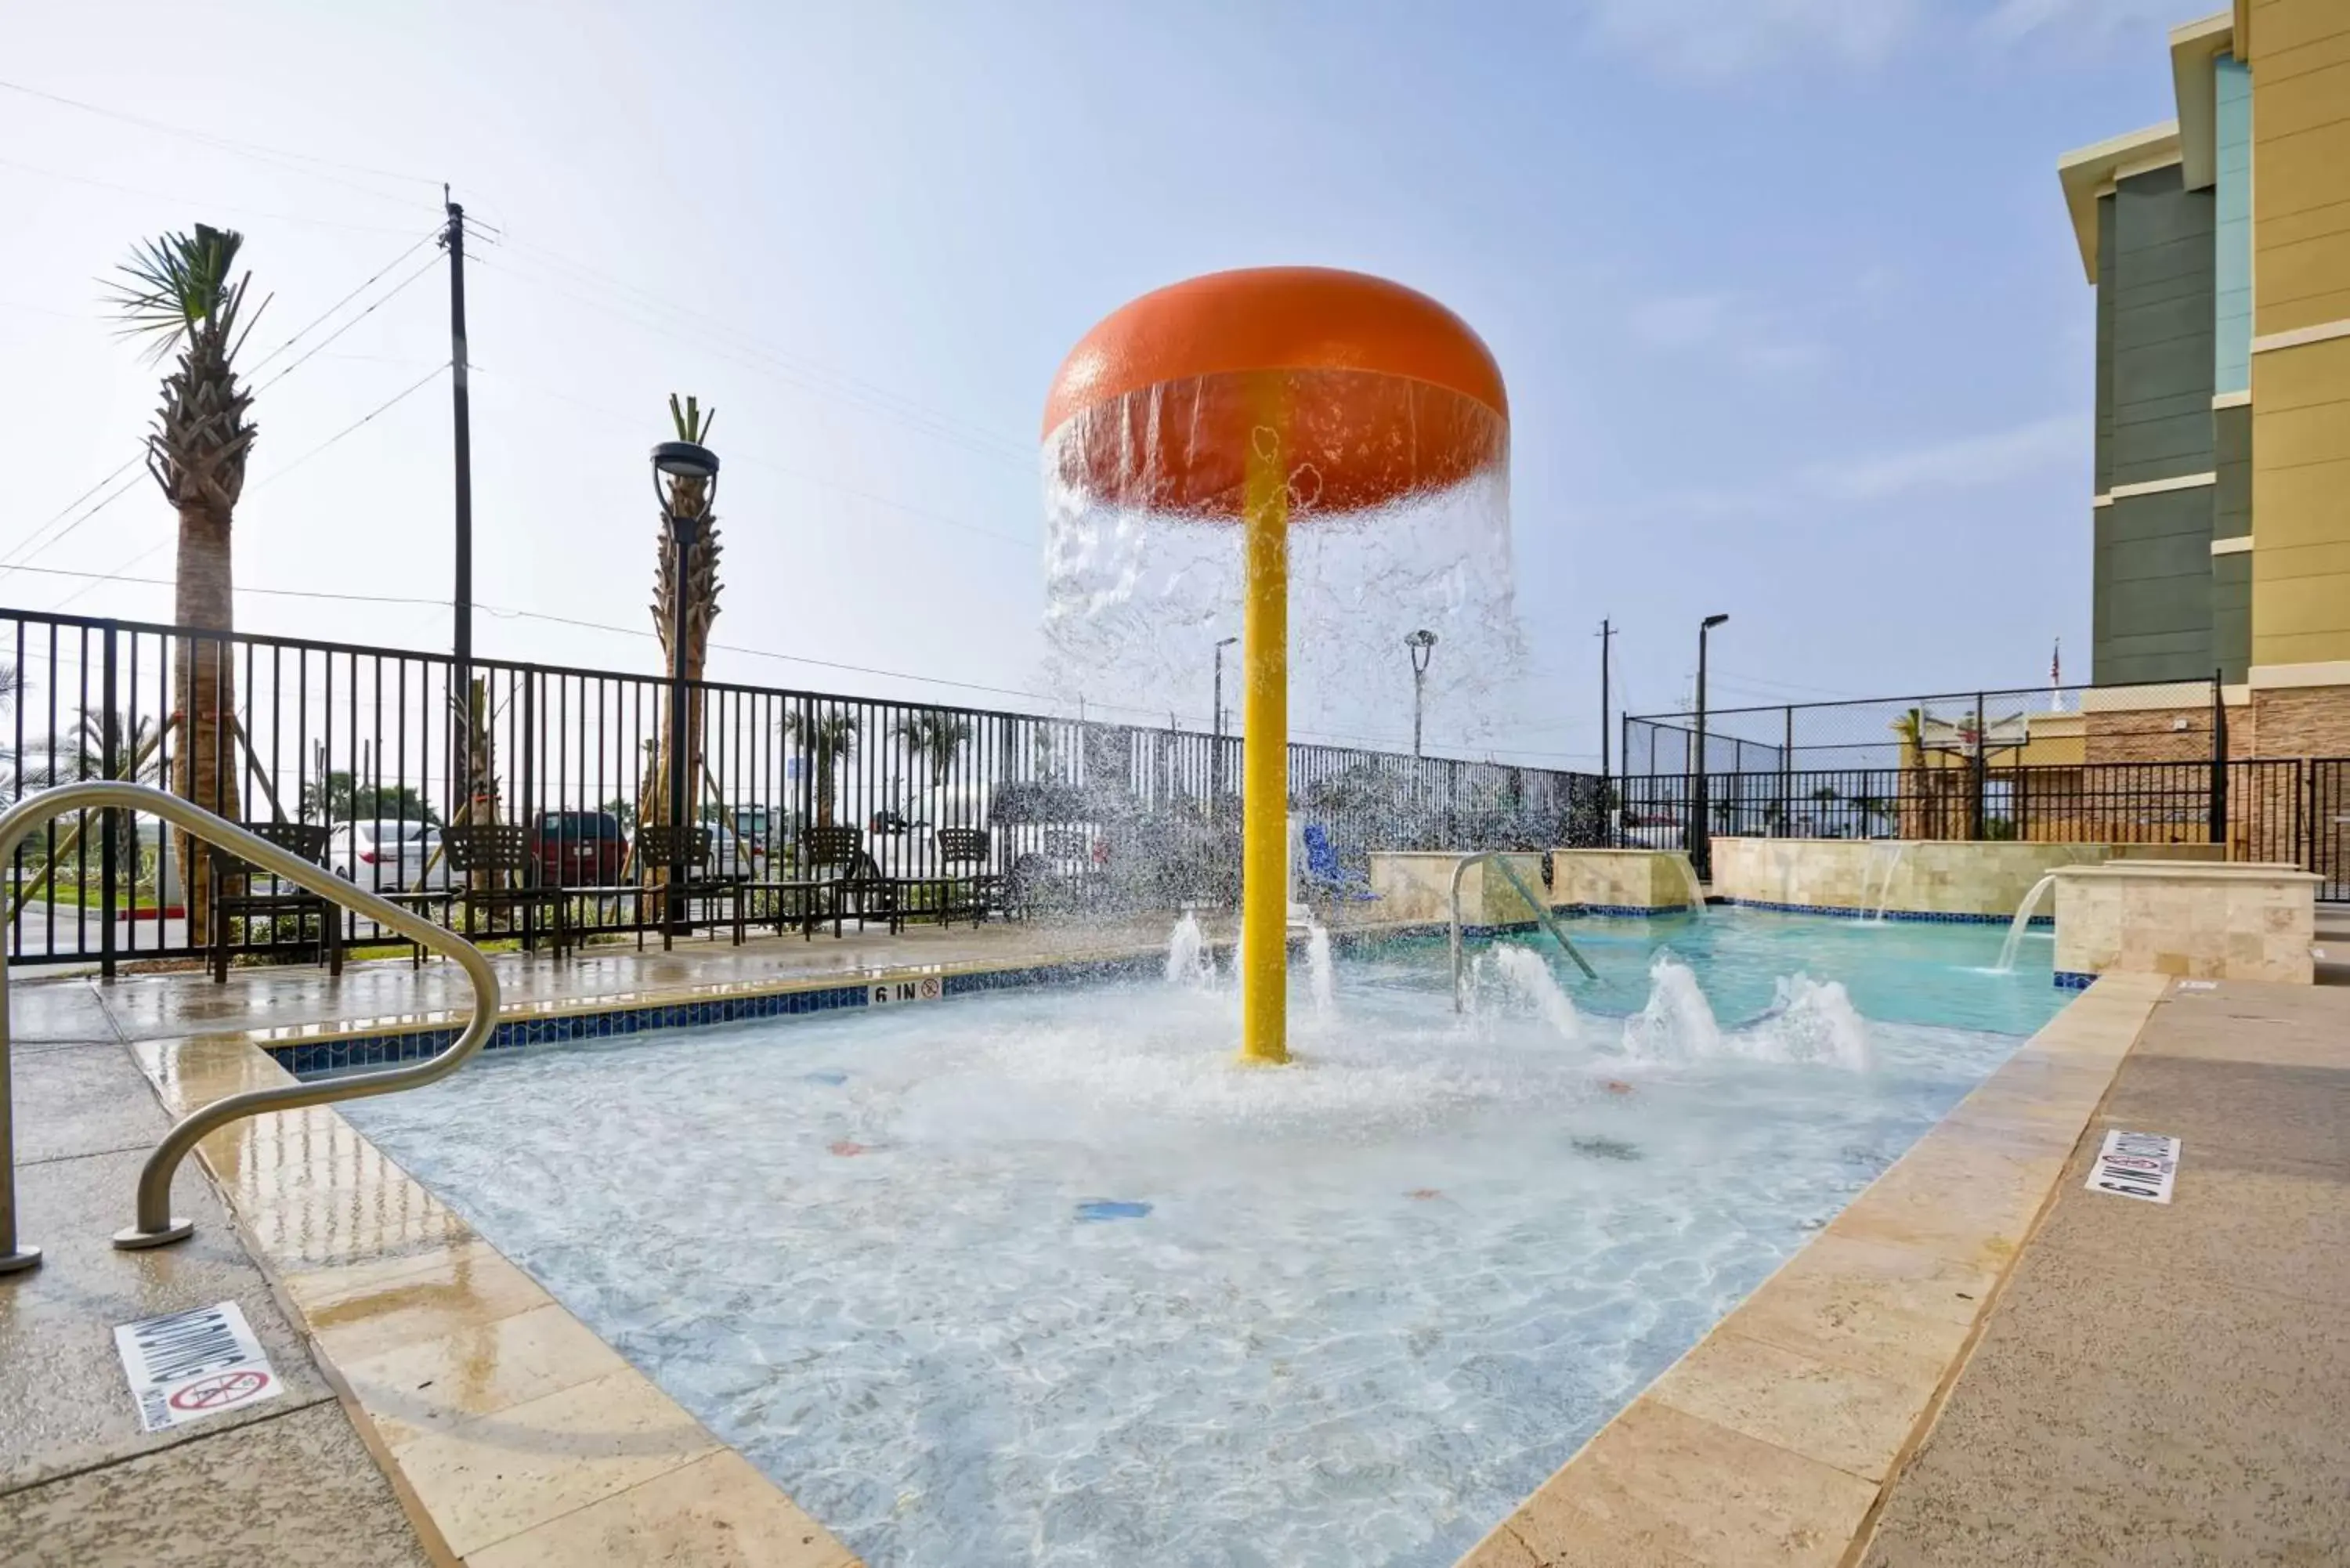
[[[2294,865],[2117,860],[2056,872],[2056,973],[2315,978],[2317,877]]]

